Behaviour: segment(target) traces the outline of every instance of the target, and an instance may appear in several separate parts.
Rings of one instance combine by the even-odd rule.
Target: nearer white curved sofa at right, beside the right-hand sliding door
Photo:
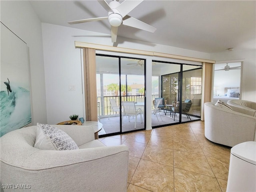
[[[246,141],[256,141],[256,117],[243,108],[232,110],[204,103],[205,137],[215,143],[233,147]],[[250,112],[249,112],[250,113]]]

